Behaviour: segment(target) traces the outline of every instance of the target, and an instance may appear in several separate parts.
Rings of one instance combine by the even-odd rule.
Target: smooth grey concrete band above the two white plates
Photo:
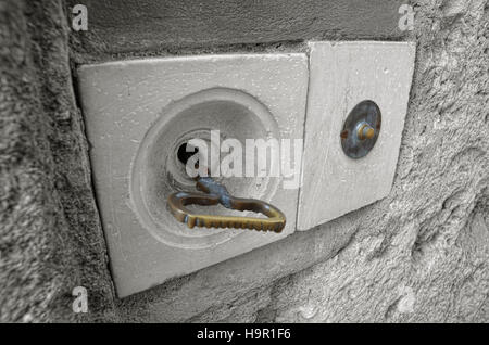
[[[90,29],[79,53],[113,54],[304,39],[397,39],[402,0],[67,0]]]

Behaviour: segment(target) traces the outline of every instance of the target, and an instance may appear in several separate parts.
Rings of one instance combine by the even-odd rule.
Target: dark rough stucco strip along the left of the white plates
[[[112,305],[73,97],[62,7],[0,1],[0,321],[82,321],[73,288]]]

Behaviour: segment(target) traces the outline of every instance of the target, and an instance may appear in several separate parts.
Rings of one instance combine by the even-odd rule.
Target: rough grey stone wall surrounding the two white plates
[[[71,33],[85,3],[89,30]],[[487,0],[0,0],[1,321],[489,321]],[[306,39],[417,42],[385,200],[115,297],[75,67],[133,56],[304,50]],[[71,309],[73,288],[89,312]]]

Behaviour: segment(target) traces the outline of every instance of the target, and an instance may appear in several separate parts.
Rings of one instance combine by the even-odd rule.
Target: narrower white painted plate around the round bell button
[[[411,42],[311,42],[310,86],[298,230],[308,230],[385,197],[392,184],[411,88]],[[374,149],[343,154],[340,131],[361,101],[380,107]]]

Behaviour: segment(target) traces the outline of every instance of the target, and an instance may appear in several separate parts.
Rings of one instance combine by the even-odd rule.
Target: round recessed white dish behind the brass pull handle
[[[212,140],[218,131],[220,141]],[[197,192],[196,181],[186,164],[197,153],[188,148],[192,139],[203,140],[208,148],[210,171],[223,159],[213,154],[226,139],[279,138],[278,126],[269,111],[258,99],[239,90],[209,89],[175,101],[163,108],[140,144],[131,173],[130,195],[140,222],[159,241],[186,248],[215,246],[240,235],[242,231],[205,229],[196,231],[177,225],[170,214],[166,201],[176,191]],[[197,144],[195,144],[197,149]],[[198,154],[205,154],[199,146]],[[220,152],[220,151],[217,151]],[[255,157],[256,159],[258,157]],[[214,162],[215,161],[215,162]],[[278,164],[271,161],[271,164]],[[218,167],[218,164],[216,164]],[[243,165],[244,167],[244,165]],[[230,194],[269,201],[279,180],[265,177],[260,183],[253,177],[215,177]],[[203,209],[221,212],[221,209]],[[223,212],[227,212],[224,209]]]

